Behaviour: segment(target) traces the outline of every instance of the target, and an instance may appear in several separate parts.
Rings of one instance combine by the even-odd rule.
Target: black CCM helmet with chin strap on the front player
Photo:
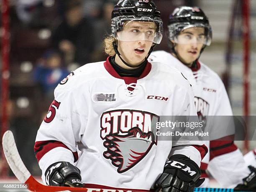
[[[116,41],[113,42],[115,53],[120,56],[118,51],[117,40],[121,41],[137,41],[138,39],[125,38],[120,33],[128,23],[132,21],[138,22],[153,22],[155,23],[155,32],[152,34],[152,38],[149,40],[153,42],[153,45],[148,52],[148,56],[153,51],[156,44],[159,44],[163,37],[163,22],[160,18],[161,13],[156,8],[156,5],[152,0],[119,0],[112,11],[111,16],[111,34],[115,37]],[[142,40],[142,39],[139,39]],[[147,56],[147,58],[148,58]],[[145,58],[145,60],[147,59]],[[133,67],[123,61],[125,65]]]

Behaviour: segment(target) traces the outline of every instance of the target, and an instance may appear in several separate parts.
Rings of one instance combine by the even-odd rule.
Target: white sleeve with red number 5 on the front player
[[[81,102],[77,95],[72,86],[59,85],[54,91],[55,99],[38,130],[34,147],[42,177],[51,164],[59,161],[74,164],[78,159],[77,143],[84,133],[87,110],[81,110],[79,104],[86,101]]]

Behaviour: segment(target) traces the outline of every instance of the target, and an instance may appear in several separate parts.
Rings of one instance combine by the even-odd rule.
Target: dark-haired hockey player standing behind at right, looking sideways
[[[195,92],[199,119],[207,122],[207,116],[232,116],[223,82],[199,61],[201,53],[212,40],[212,29],[203,11],[198,7],[176,8],[169,17],[168,33],[171,52],[155,51],[149,61],[174,66],[188,78]],[[233,141],[220,140],[206,141],[210,154],[201,162],[202,177],[206,178],[201,187],[207,187],[209,182],[207,170],[222,187],[236,187],[243,183],[238,189],[256,189],[256,169],[248,169]]]

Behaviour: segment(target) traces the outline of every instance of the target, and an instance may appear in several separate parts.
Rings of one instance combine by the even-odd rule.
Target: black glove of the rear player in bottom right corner
[[[234,191],[256,191],[256,168],[248,166],[251,173],[243,178],[243,184],[238,184]]]

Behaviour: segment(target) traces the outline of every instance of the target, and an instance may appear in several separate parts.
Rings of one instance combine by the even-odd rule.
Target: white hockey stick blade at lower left
[[[2,144],[5,159],[7,160],[10,168],[19,181],[21,183],[25,183],[31,174],[20,158],[12,131],[5,131]]]

